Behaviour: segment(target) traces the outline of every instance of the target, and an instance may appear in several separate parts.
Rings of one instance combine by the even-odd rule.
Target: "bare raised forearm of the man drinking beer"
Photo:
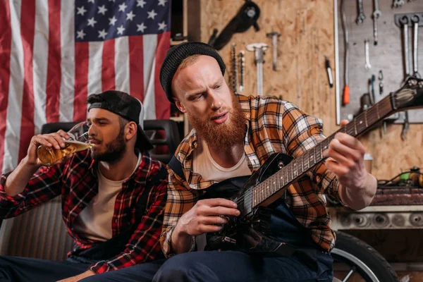
[[[38,168],[39,166],[37,165],[27,164],[26,157],[22,159],[16,169],[6,179],[6,185],[4,185],[6,194],[13,197],[18,195],[20,192],[23,192],[27,183]]]

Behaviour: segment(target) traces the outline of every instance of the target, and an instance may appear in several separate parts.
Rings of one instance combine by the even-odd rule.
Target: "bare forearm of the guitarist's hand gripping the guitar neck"
[[[364,209],[373,200],[376,194],[377,180],[368,173],[365,185],[362,188],[347,188],[340,185],[341,200],[352,209]]]

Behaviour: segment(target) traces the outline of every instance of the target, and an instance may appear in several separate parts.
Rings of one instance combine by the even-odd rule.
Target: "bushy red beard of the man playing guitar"
[[[229,120],[222,124],[214,123],[210,117],[204,119],[188,114],[188,121],[197,130],[198,135],[216,148],[233,147],[243,143],[245,137],[244,114],[235,95],[232,98],[232,109],[223,110],[228,111]]]

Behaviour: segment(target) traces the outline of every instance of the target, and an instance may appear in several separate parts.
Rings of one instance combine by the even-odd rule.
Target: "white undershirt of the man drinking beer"
[[[142,159],[141,153],[138,154],[137,165],[133,173],[140,166]],[[131,175],[133,174],[131,173]],[[74,223],[75,233],[82,234],[84,237],[97,240],[106,241],[112,237],[111,221],[114,215],[114,205],[118,193],[122,190],[122,184],[128,178],[113,181],[105,178],[97,167],[97,177],[99,180],[99,192],[91,200],[85,209],[76,217]]]

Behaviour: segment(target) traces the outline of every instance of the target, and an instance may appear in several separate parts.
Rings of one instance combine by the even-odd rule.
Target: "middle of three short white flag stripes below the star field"
[[[115,39],[115,73],[116,90],[129,93],[130,71],[129,71],[129,42],[128,37],[118,37]],[[138,83],[140,81],[138,80]]]

